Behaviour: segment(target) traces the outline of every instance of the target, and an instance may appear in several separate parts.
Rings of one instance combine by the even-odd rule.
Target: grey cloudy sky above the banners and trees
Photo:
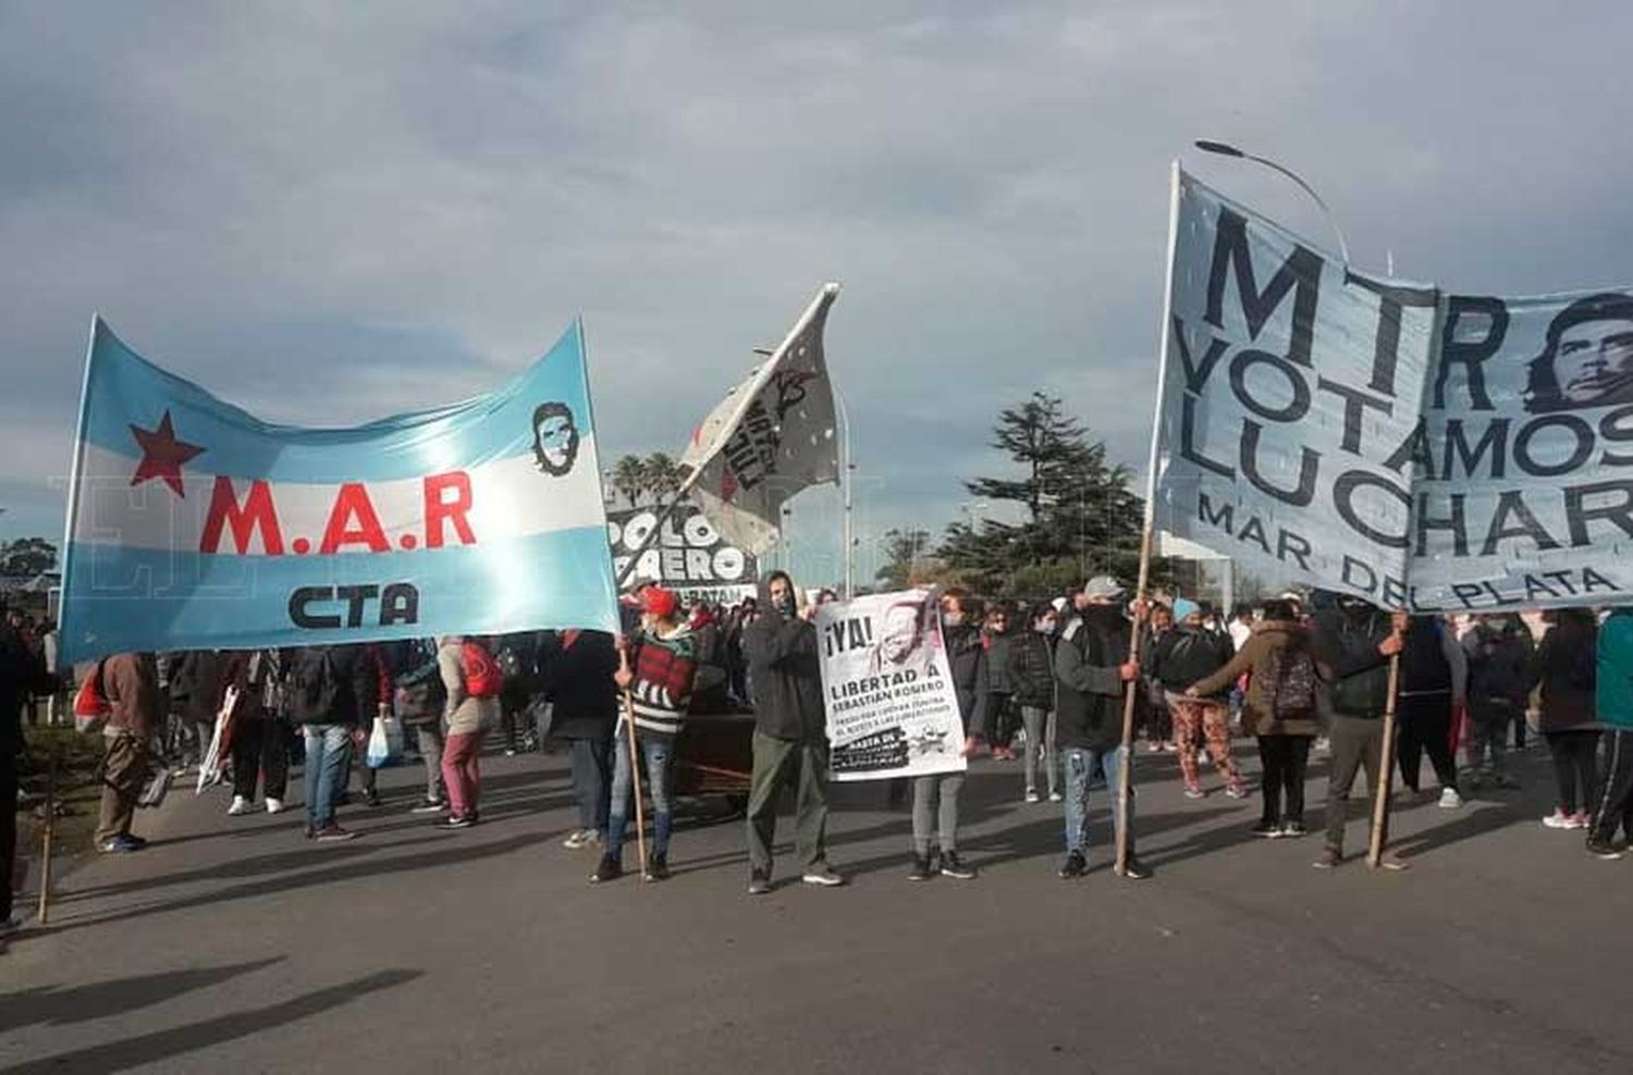
[[[1633,282],[1630,39],[1625,3],[0,0],[0,533],[60,533],[93,310],[304,424],[581,313],[612,458],[678,450],[825,279],[859,533],[939,529],[1034,388],[1141,463],[1171,157],[1326,240],[1192,139],[1305,173],[1367,268]],[[833,498],[797,506],[820,573]]]

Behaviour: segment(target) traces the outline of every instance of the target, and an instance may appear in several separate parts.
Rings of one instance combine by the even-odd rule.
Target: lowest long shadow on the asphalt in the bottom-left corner
[[[103,1072],[124,1072],[144,1064],[158,1064],[170,1057],[219,1046],[258,1034],[261,1031],[294,1023],[314,1015],[333,1011],[359,997],[382,989],[395,989],[423,975],[423,971],[379,971],[351,982],[330,985],[292,1000],[284,1000],[265,1008],[220,1015],[202,1023],[189,1023],[167,1031],[154,1031],[139,1037],[126,1037],[103,1046],[91,1046],[75,1052],[59,1052],[51,1057],[15,1064],[0,1068],[0,1075],[36,1075],[46,1072],[73,1072],[75,1075],[100,1075]],[[132,979],[136,980],[136,979]]]

